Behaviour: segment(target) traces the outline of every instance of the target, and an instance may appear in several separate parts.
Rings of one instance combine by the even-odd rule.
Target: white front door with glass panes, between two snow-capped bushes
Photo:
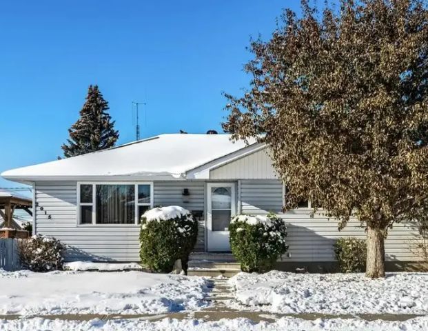
[[[235,215],[235,184],[207,184],[207,249],[230,251],[229,224]]]

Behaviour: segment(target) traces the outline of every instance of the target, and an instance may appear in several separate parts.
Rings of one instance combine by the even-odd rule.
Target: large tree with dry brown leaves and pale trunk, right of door
[[[285,208],[311,199],[367,230],[367,277],[385,275],[384,240],[428,210],[428,10],[422,0],[303,0],[254,59],[243,97],[227,95],[223,128],[267,143]]]

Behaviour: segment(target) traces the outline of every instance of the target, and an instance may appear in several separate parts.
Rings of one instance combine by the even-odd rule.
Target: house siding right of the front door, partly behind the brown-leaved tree
[[[287,221],[288,253],[282,261],[319,262],[334,261],[332,245],[339,237],[365,239],[365,232],[354,219],[347,227],[338,231],[338,223],[329,220],[319,212],[311,217],[311,210],[282,212],[282,184],[279,181],[241,181],[241,212],[243,214],[267,214],[275,212]],[[394,225],[385,241],[388,261],[417,261],[411,252],[418,238],[416,225],[401,223]]]

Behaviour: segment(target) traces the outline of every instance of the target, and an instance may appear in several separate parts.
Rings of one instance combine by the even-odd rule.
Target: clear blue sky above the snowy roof
[[[0,172],[62,156],[90,84],[110,103],[119,143],[221,131],[222,91],[248,84],[249,38],[299,1],[1,1]],[[1,187],[21,184],[0,179]]]

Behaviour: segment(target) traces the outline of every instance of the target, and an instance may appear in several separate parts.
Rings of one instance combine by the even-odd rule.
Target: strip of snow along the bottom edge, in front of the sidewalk
[[[412,331],[428,330],[428,317],[418,317],[408,321],[363,321],[360,319],[317,319],[305,321],[293,317],[285,317],[274,323],[254,323],[248,319],[221,319],[220,321],[204,322],[194,319],[179,321],[163,319],[157,322],[141,319],[118,319],[101,321],[60,321],[47,319],[21,319],[14,321],[0,320],[0,331],[35,331],[35,330],[105,330],[105,331]]]

